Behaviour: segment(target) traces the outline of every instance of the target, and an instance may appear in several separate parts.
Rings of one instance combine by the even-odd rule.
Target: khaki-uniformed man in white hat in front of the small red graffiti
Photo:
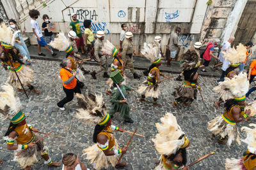
[[[133,78],[140,78],[141,75],[135,73],[133,62],[132,62],[132,54],[135,55],[133,45],[132,45],[132,37],[133,37],[132,32],[126,32],[125,33],[125,39],[124,39],[124,42],[122,44],[122,48],[123,48],[123,50],[122,50],[122,60],[124,62],[126,61],[125,66],[127,66],[131,70],[131,72],[133,74]]]

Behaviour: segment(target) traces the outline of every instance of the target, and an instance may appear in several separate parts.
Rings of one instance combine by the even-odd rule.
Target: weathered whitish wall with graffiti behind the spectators
[[[70,13],[77,13],[84,30],[83,20],[92,20],[92,30],[105,31],[113,44],[118,46],[120,25],[127,24],[134,33],[136,51],[143,42],[150,42],[154,36],[162,36],[163,51],[170,32],[179,26],[180,53],[195,41],[208,41],[218,38],[225,41],[234,36],[237,24],[247,0],[5,0],[3,6],[8,18],[19,21],[20,27],[26,26],[31,44],[36,43],[32,35],[29,9],[37,9],[40,16],[47,14],[54,22],[54,32],[68,32]],[[38,18],[41,25],[42,18]],[[254,34],[254,33],[253,33]]]

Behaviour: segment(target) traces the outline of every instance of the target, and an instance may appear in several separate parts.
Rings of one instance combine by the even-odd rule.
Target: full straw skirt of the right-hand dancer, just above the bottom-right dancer
[[[228,124],[221,115],[208,122],[209,131],[215,136],[220,135],[221,138],[228,137],[227,145],[230,147],[232,141],[236,139],[238,145],[241,144],[239,131],[236,124]]]

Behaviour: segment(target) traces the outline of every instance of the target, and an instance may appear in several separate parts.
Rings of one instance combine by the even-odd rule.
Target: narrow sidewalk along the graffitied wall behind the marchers
[[[28,47],[30,57],[31,59],[39,59],[39,60],[54,60],[54,61],[61,61],[62,59],[65,59],[66,53],[65,52],[56,52],[58,55],[52,57],[51,54],[46,50],[46,48],[41,48],[42,53],[45,53],[46,56],[39,56],[38,55],[38,48],[37,45],[31,45]],[[55,52],[55,51],[54,51]],[[148,69],[150,66],[150,61],[147,60],[144,57],[134,57],[134,68],[135,69],[140,69],[140,70],[145,70]],[[112,62],[112,59],[108,59],[108,63],[110,64]],[[84,62],[84,64],[95,64],[97,65],[97,62]],[[180,68],[180,62],[178,61],[172,61],[171,62],[171,67],[166,66],[166,60],[162,60],[162,66],[160,67],[161,71],[167,72],[167,73],[181,73],[181,68]],[[221,72],[220,71],[214,71],[214,69],[210,66],[207,67],[207,72],[202,73],[201,69],[198,70],[198,74],[202,76],[210,76],[210,77],[220,77]]]

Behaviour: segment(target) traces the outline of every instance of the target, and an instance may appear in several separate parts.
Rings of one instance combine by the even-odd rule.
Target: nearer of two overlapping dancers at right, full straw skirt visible
[[[247,118],[244,111],[245,94],[248,92],[249,81],[246,73],[240,73],[231,80],[225,78],[225,81],[220,82],[221,99],[228,99],[225,103],[225,112],[208,122],[208,130],[212,132],[212,136],[219,135],[218,143],[225,144],[227,141],[230,147],[232,141],[236,139],[240,145],[239,131],[237,130],[237,123]],[[232,98],[234,97],[234,98]]]

